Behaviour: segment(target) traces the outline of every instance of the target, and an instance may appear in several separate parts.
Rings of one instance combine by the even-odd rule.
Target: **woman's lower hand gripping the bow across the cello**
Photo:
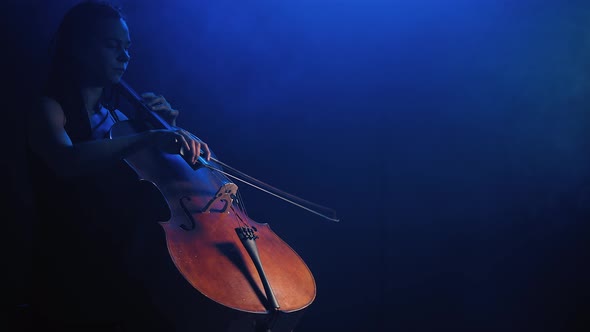
[[[197,163],[201,151],[207,161],[211,158],[207,144],[195,139],[184,129],[154,129],[150,130],[148,135],[153,144],[161,151],[182,154],[192,164]]]

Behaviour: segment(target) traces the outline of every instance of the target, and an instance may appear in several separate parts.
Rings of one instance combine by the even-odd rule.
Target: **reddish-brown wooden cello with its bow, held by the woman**
[[[135,107],[136,116],[115,123],[111,138],[149,129],[175,129],[145,106],[125,81],[114,89]],[[187,300],[164,310],[171,319],[182,321],[182,331],[293,331],[316,297],[313,274],[268,224],[246,214],[238,186],[230,177],[339,221],[335,213],[232,168],[213,151],[210,161],[199,157],[197,164],[185,159],[180,145],[178,153],[147,148],[125,161],[165,203],[158,223],[164,231],[166,257],[181,278],[170,279],[175,284],[164,286],[182,292],[178,296]],[[165,293],[167,299],[175,298]],[[196,310],[207,313],[207,323],[203,315],[194,319],[200,316]]]

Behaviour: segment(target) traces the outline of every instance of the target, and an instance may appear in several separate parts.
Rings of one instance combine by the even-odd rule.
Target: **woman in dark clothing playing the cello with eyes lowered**
[[[71,8],[53,40],[38,107],[28,117],[38,330],[171,330],[151,307],[141,263],[130,259],[150,234],[160,235],[151,248],[165,244],[156,223],[146,222],[152,214],[145,206],[133,208],[144,191],[124,158],[148,147],[176,153],[179,144],[193,163],[210,153],[175,127],[178,111],[154,93],[142,94],[145,104],[175,129],[107,137],[115,122],[127,119],[113,103],[112,86],[127,68],[130,43],[118,8],[92,1]],[[155,259],[142,254],[143,262]]]

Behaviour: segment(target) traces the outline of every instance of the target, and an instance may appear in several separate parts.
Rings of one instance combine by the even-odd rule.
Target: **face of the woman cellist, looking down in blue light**
[[[123,19],[106,18],[81,51],[82,77],[90,85],[118,83],[129,63],[129,29]]]

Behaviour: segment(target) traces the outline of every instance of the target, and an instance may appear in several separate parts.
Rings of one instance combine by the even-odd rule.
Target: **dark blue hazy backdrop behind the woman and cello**
[[[8,309],[29,298],[22,115],[75,1],[3,1]],[[590,3],[118,1],[125,76],[221,160],[306,261],[299,331],[582,331],[590,288]]]

